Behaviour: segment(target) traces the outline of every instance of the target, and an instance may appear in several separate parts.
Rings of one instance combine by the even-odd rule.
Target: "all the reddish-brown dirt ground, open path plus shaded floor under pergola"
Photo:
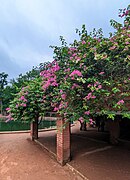
[[[29,133],[0,134],[0,180],[82,180],[29,137]],[[68,164],[87,180],[130,180],[130,146],[112,146],[108,139],[108,133],[79,131],[76,124]],[[38,142],[56,154],[56,130],[40,132]]]

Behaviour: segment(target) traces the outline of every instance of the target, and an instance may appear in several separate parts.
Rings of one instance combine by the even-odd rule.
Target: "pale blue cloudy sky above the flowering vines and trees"
[[[0,72],[9,79],[25,74],[39,63],[52,61],[50,45],[59,37],[72,43],[75,29],[113,31],[110,19],[120,21],[118,10],[129,0],[0,0]]]

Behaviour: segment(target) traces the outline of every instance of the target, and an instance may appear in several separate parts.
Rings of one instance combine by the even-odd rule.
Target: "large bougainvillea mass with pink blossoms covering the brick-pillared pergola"
[[[102,30],[88,34],[83,25],[80,40],[53,47],[55,60],[20,91],[8,112],[14,119],[33,120],[46,110],[66,120],[90,121],[98,113],[114,119],[117,112],[130,118],[130,10],[120,12],[124,23],[109,38]]]

